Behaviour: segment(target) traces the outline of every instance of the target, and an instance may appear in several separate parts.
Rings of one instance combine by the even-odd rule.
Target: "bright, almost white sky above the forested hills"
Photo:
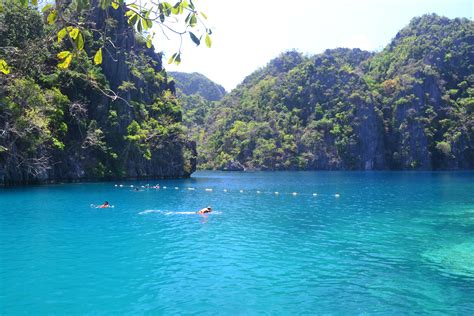
[[[380,51],[415,16],[437,13],[472,20],[469,0],[194,0],[208,17],[213,46],[183,46],[179,66],[167,70],[200,72],[230,91],[281,52],[317,54],[327,48]],[[161,45],[160,45],[161,43]],[[158,40],[168,56],[176,41]],[[167,58],[165,57],[165,60]],[[165,62],[166,63],[166,62]]]

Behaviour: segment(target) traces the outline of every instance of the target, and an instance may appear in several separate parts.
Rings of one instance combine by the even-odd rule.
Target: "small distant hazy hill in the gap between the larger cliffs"
[[[223,86],[215,83],[206,76],[193,72],[169,72],[174,78],[175,86],[184,95],[200,95],[207,101],[219,101],[226,92]]]

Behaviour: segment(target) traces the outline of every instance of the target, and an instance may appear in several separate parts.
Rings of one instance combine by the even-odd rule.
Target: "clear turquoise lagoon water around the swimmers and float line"
[[[139,192],[0,189],[0,315],[472,315],[473,180],[198,172]]]

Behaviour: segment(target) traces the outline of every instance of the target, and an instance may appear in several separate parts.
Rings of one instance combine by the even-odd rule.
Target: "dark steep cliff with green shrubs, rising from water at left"
[[[0,47],[8,49],[0,58],[11,73],[0,76],[0,184],[194,171],[193,146],[162,56],[128,25],[123,6],[104,11],[91,3],[81,15],[74,7],[64,14],[92,23],[110,40],[102,64],[78,54],[65,70],[56,56],[72,50],[71,43],[49,40],[49,12],[3,7]],[[90,32],[84,42],[93,52],[101,45]]]

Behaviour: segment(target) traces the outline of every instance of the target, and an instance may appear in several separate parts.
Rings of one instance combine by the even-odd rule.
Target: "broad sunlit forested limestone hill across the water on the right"
[[[207,112],[199,166],[473,168],[473,31],[425,15],[379,53],[283,53]]]

